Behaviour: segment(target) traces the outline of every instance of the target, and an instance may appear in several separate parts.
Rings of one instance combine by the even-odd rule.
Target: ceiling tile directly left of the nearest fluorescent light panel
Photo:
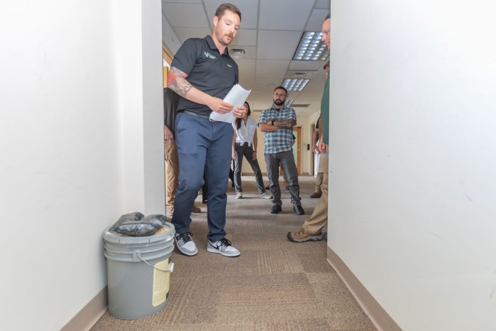
[[[291,60],[301,37],[299,31],[258,30],[257,58]]]

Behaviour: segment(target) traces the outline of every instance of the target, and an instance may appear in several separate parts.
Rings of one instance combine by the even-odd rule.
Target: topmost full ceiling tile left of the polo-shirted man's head
[[[173,27],[210,27],[201,3],[165,2],[162,3],[162,12]]]

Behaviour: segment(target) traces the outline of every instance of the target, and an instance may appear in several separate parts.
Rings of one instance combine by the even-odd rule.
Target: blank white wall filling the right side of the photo
[[[329,246],[406,331],[496,330],[494,1],[332,1]]]

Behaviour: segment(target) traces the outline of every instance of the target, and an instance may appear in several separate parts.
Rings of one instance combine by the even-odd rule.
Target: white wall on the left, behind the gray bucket
[[[146,2],[0,11],[4,330],[61,329],[107,283],[104,228],[164,212],[160,1]]]

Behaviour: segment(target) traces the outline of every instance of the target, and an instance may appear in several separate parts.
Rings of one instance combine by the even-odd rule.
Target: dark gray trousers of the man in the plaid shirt
[[[276,154],[265,154],[265,164],[267,165],[267,178],[270,181],[270,192],[274,199],[272,203],[282,205],[281,188],[279,187],[279,164],[286,180],[288,181],[288,190],[291,194],[291,202],[298,206],[300,202],[300,185],[298,185],[298,170],[296,169],[295,157],[293,151],[280,152]]]

